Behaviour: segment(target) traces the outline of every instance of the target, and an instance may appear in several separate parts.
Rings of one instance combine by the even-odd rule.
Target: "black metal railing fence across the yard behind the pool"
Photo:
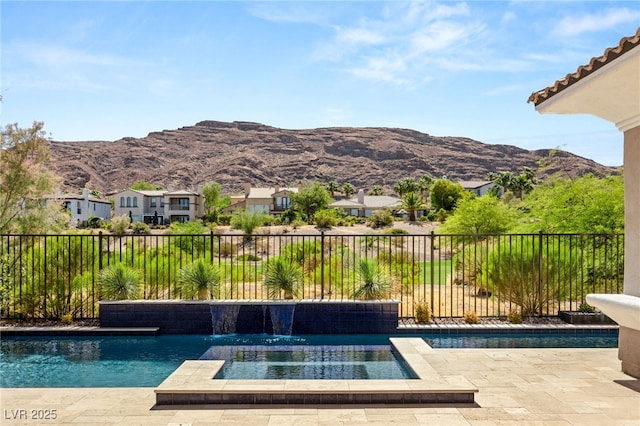
[[[101,271],[123,263],[142,279],[140,298],[184,298],[180,270],[216,265],[216,298],[267,299],[264,267],[282,256],[304,271],[301,298],[352,299],[360,258],[393,282],[400,316],[418,302],[435,317],[553,316],[587,293],[620,293],[623,235],[0,235],[3,318],[96,318]]]

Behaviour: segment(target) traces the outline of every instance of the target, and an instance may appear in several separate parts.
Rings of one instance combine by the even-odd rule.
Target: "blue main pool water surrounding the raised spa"
[[[388,345],[386,335],[162,335],[157,337],[3,337],[0,387],[155,387],[184,360],[212,346]],[[394,335],[435,348],[617,347],[617,335]]]

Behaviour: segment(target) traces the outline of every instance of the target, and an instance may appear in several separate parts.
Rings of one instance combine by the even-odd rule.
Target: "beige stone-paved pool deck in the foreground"
[[[615,348],[434,351],[438,357],[428,359],[431,367],[443,377],[464,377],[478,389],[475,403],[454,406],[189,405],[166,408],[156,405],[155,388],[152,387],[4,388],[0,389],[0,423],[251,426],[345,423],[640,424],[640,380],[620,371]],[[51,414],[52,410],[55,410],[55,419],[37,418]]]

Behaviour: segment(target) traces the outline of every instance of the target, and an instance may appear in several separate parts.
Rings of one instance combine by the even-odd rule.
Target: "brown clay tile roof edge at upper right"
[[[631,37],[624,37],[620,40],[620,43],[618,43],[616,47],[608,48],[607,50],[605,50],[602,56],[591,58],[589,64],[579,66],[576,72],[567,74],[564,78],[557,80],[552,86],[549,86],[537,92],[533,92],[531,96],[529,96],[527,103],[533,102],[535,106],[538,106],[542,102],[560,93],[577,81],[594,73],[598,69],[611,63],[634,47],[638,46],[640,46],[640,27],[636,31],[635,35]]]

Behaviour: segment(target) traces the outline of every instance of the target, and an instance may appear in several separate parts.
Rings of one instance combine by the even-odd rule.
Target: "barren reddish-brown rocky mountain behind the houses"
[[[524,166],[541,178],[617,172],[565,151],[528,151],[408,129],[288,130],[239,121],[203,121],[115,142],[52,142],[51,152],[66,189],[86,187],[105,194],[136,181],[193,190],[215,181],[230,193],[241,191],[245,182],[273,186],[334,180],[368,189],[392,188],[400,179],[424,174],[482,180],[488,172],[518,174]]]

